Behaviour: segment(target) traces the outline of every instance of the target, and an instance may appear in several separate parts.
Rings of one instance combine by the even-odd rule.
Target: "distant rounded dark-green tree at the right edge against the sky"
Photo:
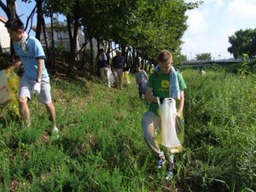
[[[243,54],[249,57],[256,55],[256,28],[239,30],[229,37],[231,46],[228,48],[230,54],[234,57],[242,58]]]

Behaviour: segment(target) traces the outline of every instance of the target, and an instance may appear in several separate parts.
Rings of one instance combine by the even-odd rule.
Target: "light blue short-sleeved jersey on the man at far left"
[[[22,50],[21,45],[14,43],[15,56],[20,58],[24,66],[24,74],[27,79],[36,80],[38,77],[38,59],[45,59],[44,49],[37,38],[28,37],[26,39],[26,50]],[[45,64],[43,65],[42,79],[49,78]]]

